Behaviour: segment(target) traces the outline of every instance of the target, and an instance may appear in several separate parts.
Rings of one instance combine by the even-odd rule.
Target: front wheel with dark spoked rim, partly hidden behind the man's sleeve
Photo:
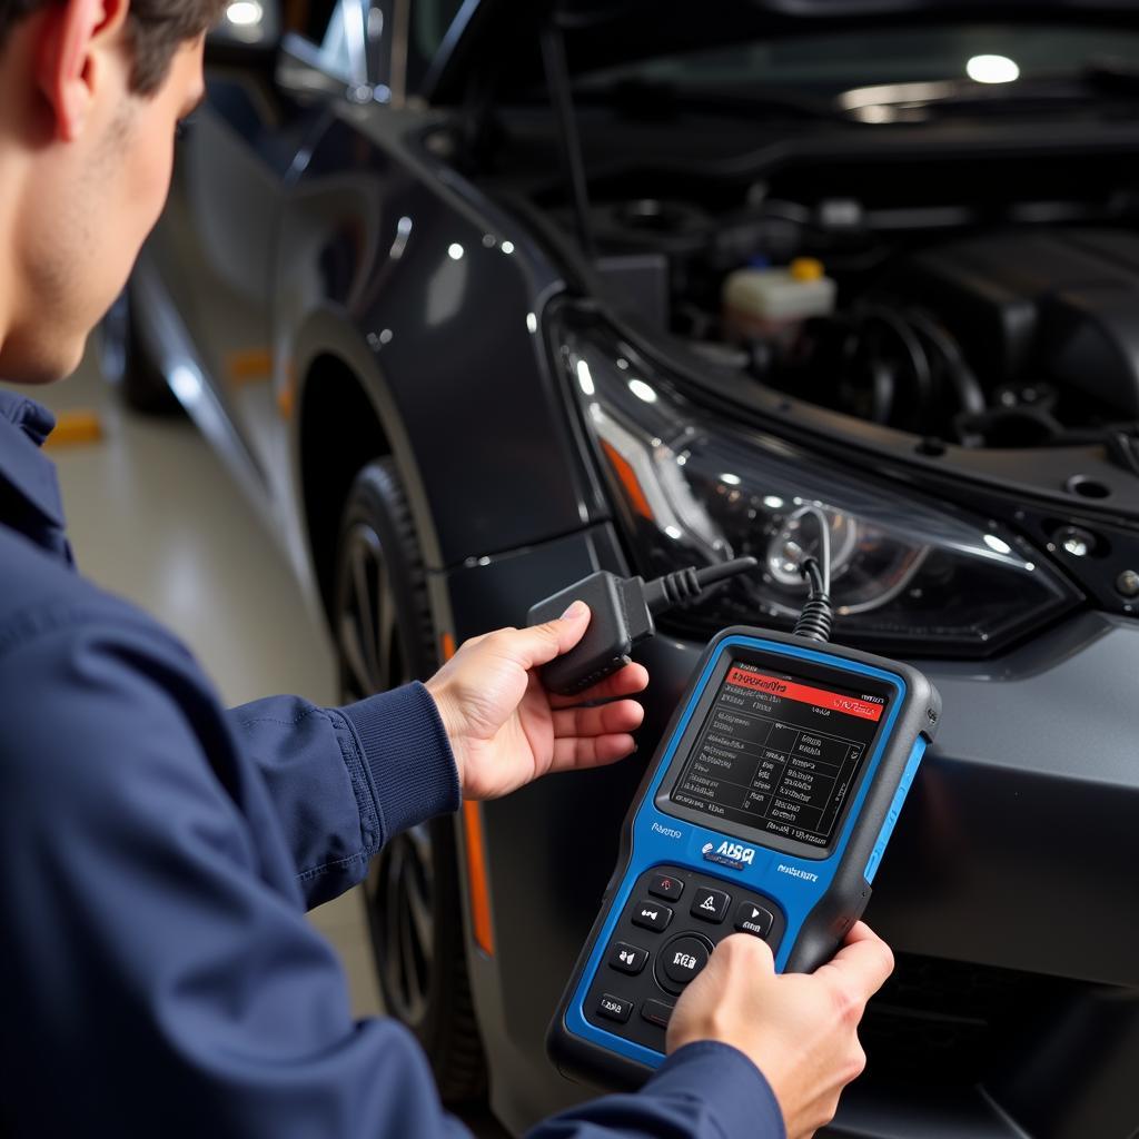
[[[391,459],[370,462],[349,492],[333,630],[345,700],[436,666],[423,556]],[[481,1098],[486,1068],[454,920],[462,908],[453,821],[433,819],[390,839],[364,883],[364,904],[385,1011],[419,1039],[446,1103]]]

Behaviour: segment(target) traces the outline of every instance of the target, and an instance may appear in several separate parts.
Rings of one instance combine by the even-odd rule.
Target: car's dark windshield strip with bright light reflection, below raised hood
[[[687,55],[663,56],[596,72],[579,82],[598,91],[632,82],[663,83],[683,91],[762,88],[842,92],[875,84],[972,79],[1077,79],[1095,65],[1136,68],[1139,32],[1060,24],[941,25],[846,31],[735,43]]]

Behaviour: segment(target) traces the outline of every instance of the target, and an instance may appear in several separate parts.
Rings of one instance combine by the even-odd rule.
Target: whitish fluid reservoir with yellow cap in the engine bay
[[[796,257],[786,268],[737,269],[721,295],[732,341],[786,335],[808,317],[835,310],[835,282],[813,257]]]

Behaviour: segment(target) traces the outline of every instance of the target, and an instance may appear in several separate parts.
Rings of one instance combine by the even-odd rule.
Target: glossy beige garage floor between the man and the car
[[[333,657],[272,539],[186,419],[128,411],[93,353],[69,379],[28,392],[57,416],[91,411],[101,439],[51,448],[87,576],[171,626],[227,704],[274,693],[335,703]],[[359,891],[311,913],[336,945],[357,1016],[380,1011]],[[478,1116],[482,1139],[505,1132]]]

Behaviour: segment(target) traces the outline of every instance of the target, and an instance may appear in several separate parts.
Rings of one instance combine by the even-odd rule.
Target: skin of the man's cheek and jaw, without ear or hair
[[[16,235],[26,303],[0,350],[5,378],[47,383],[82,359],[162,212],[178,122],[204,90],[203,42],[187,42],[149,96],[130,90],[128,51],[101,50],[87,71],[89,99],[81,96],[76,121],[62,123],[57,113],[40,169],[30,164]]]

